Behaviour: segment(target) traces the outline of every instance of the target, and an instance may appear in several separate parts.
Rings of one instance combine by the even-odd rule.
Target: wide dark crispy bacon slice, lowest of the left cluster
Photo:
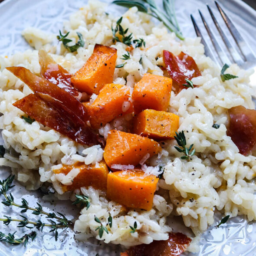
[[[92,129],[61,102],[50,95],[35,92],[13,103],[30,117],[62,135],[81,144],[98,144],[97,135]]]

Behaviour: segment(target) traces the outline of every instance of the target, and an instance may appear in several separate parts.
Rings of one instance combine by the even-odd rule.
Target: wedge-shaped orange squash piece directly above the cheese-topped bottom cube
[[[108,134],[103,156],[111,168],[112,164],[137,165],[146,154],[152,156],[160,151],[160,145],[152,139],[112,130]]]

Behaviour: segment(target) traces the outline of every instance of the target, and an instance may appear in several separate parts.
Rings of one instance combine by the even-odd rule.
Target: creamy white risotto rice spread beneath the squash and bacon
[[[134,39],[144,39],[145,46],[132,49],[129,58],[124,60],[127,46],[112,41],[112,26],[119,18],[105,13],[105,5],[92,0],[64,23],[64,31],[69,32],[69,38],[77,41],[79,32],[85,41],[77,52],[70,53],[60,44],[56,46],[52,43],[53,35],[28,28],[23,31],[23,36],[35,49],[8,58],[0,57],[0,112],[3,114],[0,116],[0,128],[6,149],[3,158],[0,158],[0,165],[10,167],[16,179],[28,190],[36,190],[47,182],[52,184],[59,200],[74,201],[75,194],[89,197],[90,207],[81,210],[74,225],[79,240],[96,237],[105,243],[124,246],[167,240],[173,230],[168,217],[181,216],[184,225],[194,232],[187,250],[196,252],[200,234],[213,224],[215,209],[231,217],[246,215],[248,220],[256,220],[256,185],[253,182],[256,158],[252,153],[246,156],[240,154],[227,135],[230,108],[243,105],[254,109],[253,91],[248,85],[251,71],[233,64],[227,72],[237,78],[223,82],[220,68],[204,55],[200,38],[178,41],[162,23],[156,26],[149,15],[138,12],[136,7],[123,14],[121,25],[128,28]],[[116,65],[119,67],[115,68],[113,83],[127,86],[129,92],[145,73],[167,76],[162,68],[165,66],[163,50],[175,56],[186,53],[193,57],[200,69],[201,75],[191,79],[195,87],[182,89],[178,93],[172,91],[168,104],[168,112],[179,117],[178,131],[184,131],[187,145],[193,144],[195,153],[188,159],[181,159],[181,152],[174,148],[177,141],[167,139],[160,143],[160,153],[140,161],[146,174],[162,174],[151,210],[127,209],[109,200],[105,191],[92,186],[65,191],[64,187],[72,185],[79,169],[73,168],[67,174],[58,170],[75,163],[97,165],[103,160],[104,147],[100,143],[91,147],[79,144],[38,121],[30,124],[22,118],[24,112],[13,106],[14,102],[33,91],[6,67],[22,66],[39,75],[38,50],[43,48],[73,74],[92,55],[95,44],[117,49]],[[122,65],[124,62],[125,65]],[[89,105],[97,100],[95,93],[82,93],[81,97]],[[129,103],[124,103],[123,112],[129,106]],[[98,128],[98,133],[106,141],[111,130],[127,131],[132,118],[132,114],[115,118]],[[214,124],[219,127],[214,128]],[[162,167],[161,173],[159,166]],[[115,166],[126,170],[133,167]],[[99,236],[95,217],[105,225],[109,213],[112,227],[108,233]],[[130,226],[134,226],[135,222],[137,228],[131,233]]]

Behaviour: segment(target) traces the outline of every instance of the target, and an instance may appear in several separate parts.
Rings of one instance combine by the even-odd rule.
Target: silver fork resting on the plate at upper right
[[[197,34],[197,36],[201,37],[201,43],[203,43],[203,45],[204,45],[205,55],[209,56],[211,59],[215,59],[220,66],[223,66],[223,64],[225,64],[226,62],[230,62],[230,63],[237,63],[243,69],[252,69],[253,68],[254,74],[250,77],[250,79],[251,79],[251,85],[255,86],[255,91],[256,91],[256,57],[254,56],[253,52],[251,51],[251,49],[249,48],[247,43],[244,41],[241,34],[238,32],[238,30],[236,29],[234,24],[231,22],[230,18],[226,15],[226,13],[220,7],[219,3],[217,3],[217,1],[214,1],[214,2],[217,6],[217,9],[220,12],[220,15],[222,16],[224,22],[226,23],[228,30],[230,31],[231,36],[233,36],[233,39],[236,43],[236,47],[234,48],[232,46],[232,44],[230,43],[226,34],[223,32],[220,24],[218,23],[216,17],[214,16],[213,11],[207,5],[210,16],[211,16],[213,23],[215,24],[218,32],[220,33],[223,43],[226,46],[227,52],[226,52],[226,54],[223,52],[216,37],[214,36],[212,29],[210,29],[210,27],[207,24],[206,19],[204,18],[203,14],[199,10],[199,14],[203,21],[203,25],[204,25],[205,29],[207,30],[207,33],[210,37],[213,48],[215,49],[215,53],[212,53],[209,45],[207,45],[205,39],[203,38],[203,34],[201,33],[199,27],[197,26],[197,23],[196,23],[193,15],[191,14],[190,17],[191,17],[192,23],[194,25],[196,34]],[[225,61],[224,61],[224,59],[225,59]],[[227,64],[229,64],[229,63],[227,63]],[[254,96],[256,97],[256,92],[255,92]]]

